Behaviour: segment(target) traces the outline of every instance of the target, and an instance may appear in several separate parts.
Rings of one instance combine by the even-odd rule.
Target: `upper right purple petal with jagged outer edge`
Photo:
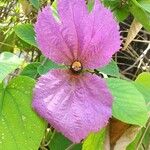
[[[95,0],[87,20],[86,42],[80,59],[85,67],[96,69],[108,64],[112,55],[120,49],[119,26],[112,12],[104,8],[99,0]]]

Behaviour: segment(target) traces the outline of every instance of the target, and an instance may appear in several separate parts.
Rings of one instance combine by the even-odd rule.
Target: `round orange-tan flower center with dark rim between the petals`
[[[83,69],[83,67],[82,67],[82,64],[81,64],[81,62],[79,62],[79,61],[74,61],[72,64],[71,64],[71,66],[70,66],[70,70],[73,72],[73,73],[75,73],[75,74],[79,74],[79,73],[81,73],[82,72],[82,69]]]

